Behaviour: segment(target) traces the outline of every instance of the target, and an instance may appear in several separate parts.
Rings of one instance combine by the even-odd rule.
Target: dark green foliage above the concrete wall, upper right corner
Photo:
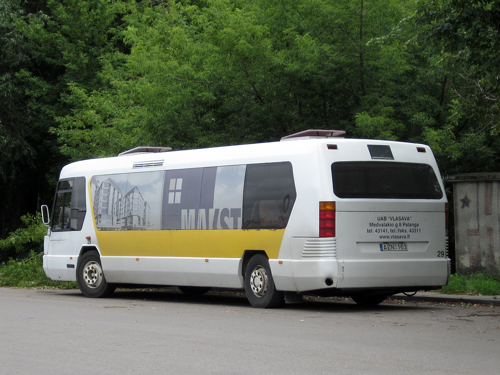
[[[417,37],[433,45],[449,99],[456,171],[497,170],[500,131],[499,0],[417,1]],[[437,59],[438,58],[438,59]]]

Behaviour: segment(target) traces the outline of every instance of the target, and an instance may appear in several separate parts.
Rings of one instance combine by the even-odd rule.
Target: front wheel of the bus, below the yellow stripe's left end
[[[116,286],[106,281],[102,272],[99,253],[95,250],[83,253],[76,265],[76,283],[80,291],[90,298],[107,297]]]

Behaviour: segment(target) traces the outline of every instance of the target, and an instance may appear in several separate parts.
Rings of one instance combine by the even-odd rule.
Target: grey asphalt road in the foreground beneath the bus
[[[1,374],[500,373],[500,307],[0,288]]]

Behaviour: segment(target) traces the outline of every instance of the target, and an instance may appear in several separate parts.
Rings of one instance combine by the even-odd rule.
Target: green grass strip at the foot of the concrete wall
[[[452,274],[448,285],[440,290],[447,294],[500,295],[500,280],[483,273]]]

